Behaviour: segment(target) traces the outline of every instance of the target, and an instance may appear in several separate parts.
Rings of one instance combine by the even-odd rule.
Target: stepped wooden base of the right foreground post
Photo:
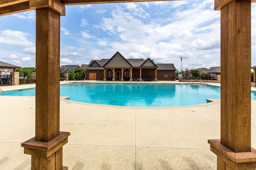
[[[218,170],[229,170],[226,164],[234,170],[255,170],[256,169],[256,149],[251,152],[233,152],[220,143],[220,139],[208,140],[211,151],[218,156]],[[220,162],[222,161],[222,162]]]

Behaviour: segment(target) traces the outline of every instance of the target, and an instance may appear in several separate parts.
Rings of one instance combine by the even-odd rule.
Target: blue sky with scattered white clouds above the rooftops
[[[35,67],[36,12],[0,17],[0,61]],[[60,65],[150,58],[176,69],[220,66],[220,11],[214,0],[66,6]],[[256,3],[252,3],[252,66],[256,65]]]

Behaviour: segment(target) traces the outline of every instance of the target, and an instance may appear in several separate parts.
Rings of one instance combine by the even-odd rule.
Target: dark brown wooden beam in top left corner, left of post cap
[[[13,4],[9,6],[3,6],[0,8],[0,16],[5,16],[9,14],[16,14],[19,12],[30,11],[32,9],[29,8],[29,2],[21,2],[18,4]]]

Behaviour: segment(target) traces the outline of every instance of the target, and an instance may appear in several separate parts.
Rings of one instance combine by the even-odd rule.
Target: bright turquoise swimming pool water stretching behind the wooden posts
[[[5,92],[6,96],[35,96],[35,89]],[[189,106],[220,99],[220,87],[186,84],[88,83],[60,86],[60,96],[90,104],[133,107]],[[256,99],[256,92],[252,92]]]

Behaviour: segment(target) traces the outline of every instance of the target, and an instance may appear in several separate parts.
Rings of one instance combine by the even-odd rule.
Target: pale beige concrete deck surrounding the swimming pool
[[[256,148],[256,100],[251,110],[252,147]],[[217,158],[208,139],[220,139],[220,100],[197,106],[141,108],[61,98],[60,131],[71,134],[63,147],[63,166],[69,170],[216,170]],[[30,170],[31,156],[24,154],[21,143],[34,136],[35,97],[0,96],[0,170]]]

